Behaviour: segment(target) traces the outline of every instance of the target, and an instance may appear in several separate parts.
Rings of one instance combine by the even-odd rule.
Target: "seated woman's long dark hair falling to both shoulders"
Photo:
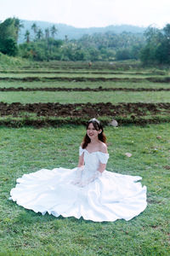
[[[96,131],[101,130],[101,132],[98,134],[99,141],[101,141],[102,143],[106,143],[104,129],[103,129],[100,121],[98,119],[90,119],[86,126],[86,130],[88,130],[89,124],[93,124]],[[86,134],[82,141],[82,148],[86,148],[88,146],[88,143],[90,143],[90,142],[91,142],[91,139],[88,137],[88,134]]]

